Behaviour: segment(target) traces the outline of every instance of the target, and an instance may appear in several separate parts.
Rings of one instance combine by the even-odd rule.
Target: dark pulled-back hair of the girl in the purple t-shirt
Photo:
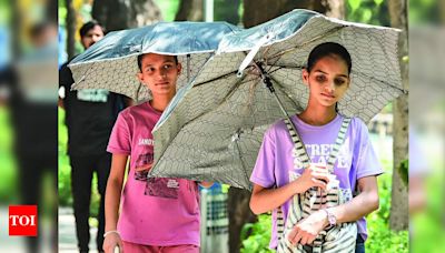
[[[307,60],[307,71],[310,72],[319,59],[332,54],[342,58],[348,67],[348,73],[350,73],[350,69],[353,67],[350,54],[345,47],[335,42],[320,43],[315,47],[313,51],[310,51],[309,58]]]

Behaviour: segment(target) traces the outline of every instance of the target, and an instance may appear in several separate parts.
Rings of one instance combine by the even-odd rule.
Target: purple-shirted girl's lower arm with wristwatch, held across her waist
[[[358,180],[357,186],[360,193],[352,201],[332,208],[329,211],[335,215],[337,224],[353,222],[378,209],[378,188],[375,175]],[[307,219],[301,220],[289,233],[288,240],[295,245],[310,244],[318,233],[329,225],[327,213],[319,210]]]

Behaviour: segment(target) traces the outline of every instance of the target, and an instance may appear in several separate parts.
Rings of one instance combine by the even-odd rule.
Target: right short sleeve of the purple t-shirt
[[[353,168],[356,170],[357,180],[369,175],[379,175],[384,171],[378,161],[368,129],[358,118],[354,119],[353,128],[356,130]]]

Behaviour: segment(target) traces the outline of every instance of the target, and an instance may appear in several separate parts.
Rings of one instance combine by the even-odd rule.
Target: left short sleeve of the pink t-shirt
[[[126,114],[122,111],[119,113],[112,128],[110,140],[108,142],[107,151],[110,153],[128,154],[131,153],[131,133],[128,128]]]

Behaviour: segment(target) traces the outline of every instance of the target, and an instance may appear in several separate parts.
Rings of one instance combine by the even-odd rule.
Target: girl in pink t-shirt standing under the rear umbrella
[[[126,253],[198,253],[197,183],[147,179],[154,158],[151,130],[176,94],[181,64],[172,55],[147,53],[138,57],[138,78],[150,89],[152,100],[123,110],[111,132],[107,148],[112,162],[105,200],[103,250],[113,252],[119,246]],[[122,190],[128,156],[130,169]]]

